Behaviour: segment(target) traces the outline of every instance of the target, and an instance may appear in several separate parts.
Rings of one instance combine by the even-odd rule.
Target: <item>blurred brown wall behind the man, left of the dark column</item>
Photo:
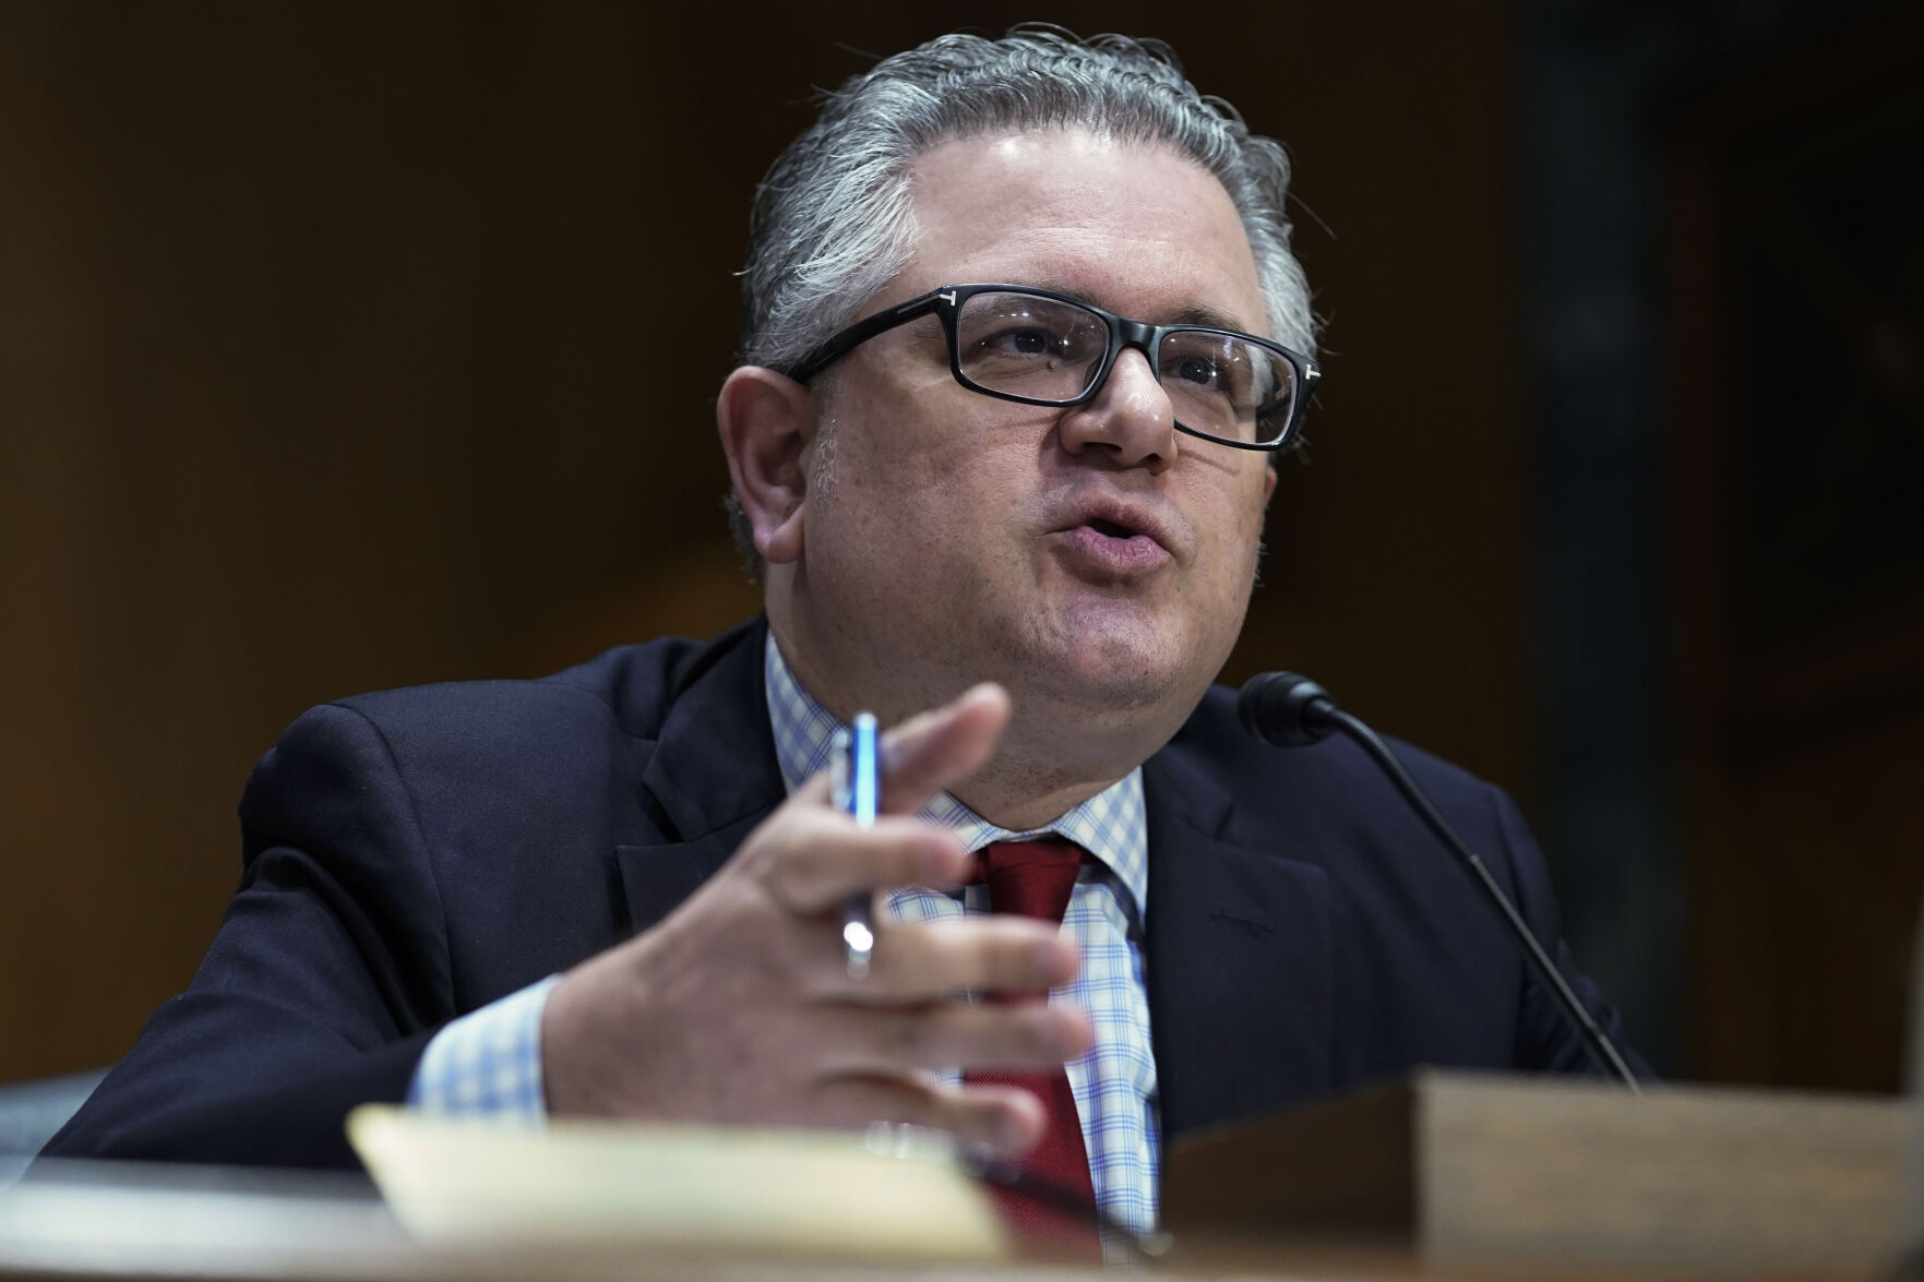
[[[1176,40],[1297,158],[1328,381],[1229,676],[1316,672],[1528,801],[1495,0],[12,4],[0,1080],[189,980],[304,706],[752,608],[710,425],[752,183],[850,50],[1037,15]]]

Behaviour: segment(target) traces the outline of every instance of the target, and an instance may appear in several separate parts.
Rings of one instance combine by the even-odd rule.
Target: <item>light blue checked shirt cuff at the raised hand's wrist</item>
[[[408,1084],[408,1107],[487,1113],[541,1122],[541,1013],[562,976],[550,974],[454,1020],[427,1043]]]

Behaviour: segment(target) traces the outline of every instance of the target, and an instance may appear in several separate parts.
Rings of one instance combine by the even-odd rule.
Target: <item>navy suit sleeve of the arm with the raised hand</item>
[[[362,712],[302,716],[240,803],[240,887],[192,986],[48,1143],[58,1157],[352,1167],[456,1014],[416,799]]]

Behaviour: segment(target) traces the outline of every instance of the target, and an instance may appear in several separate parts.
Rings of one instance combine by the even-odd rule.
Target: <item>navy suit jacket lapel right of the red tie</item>
[[[1322,868],[1237,824],[1170,747],[1143,766],[1145,964],[1164,1136],[1329,1086],[1333,939]]]

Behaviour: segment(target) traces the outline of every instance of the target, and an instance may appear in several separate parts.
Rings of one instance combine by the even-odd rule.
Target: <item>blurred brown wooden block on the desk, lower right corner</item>
[[[1878,1274],[1918,1103],[1424,1068],[1174,1143],[1164,1226],[1424,1261]]]

